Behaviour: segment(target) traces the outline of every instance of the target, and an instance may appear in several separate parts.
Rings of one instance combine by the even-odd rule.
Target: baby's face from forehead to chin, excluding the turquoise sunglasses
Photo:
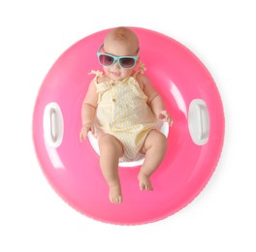
[[[104,44],[104,51],[114,56],[135,56],[137,55],[137,50],[138,48],[128,47],[126,44],[116,41]],[[113,80],[125,79],[133,72],[133,69],[122,68],[117,61],[110,67],[104,66],[103,69],[106,76]]]

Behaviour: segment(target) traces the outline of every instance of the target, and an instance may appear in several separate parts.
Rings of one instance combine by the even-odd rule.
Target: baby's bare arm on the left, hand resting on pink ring
[[[95,111],[97,108],[97,100],[98,100],[98,96],[96,93],[96,86],[94,83],[94,79],[92,79],[81,106],[82,127],[80,130],[80,142],[82,142],[87,138],[89,131],[92,131],[92,133],[94,133],[93,121],[94,121]]]

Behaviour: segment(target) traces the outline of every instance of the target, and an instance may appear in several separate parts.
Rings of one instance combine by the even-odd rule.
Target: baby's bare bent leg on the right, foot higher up
[[[165,156],[166,149],[166,137],[159,131],[151,130],[142,148],[142,152],[145,153],[145,159],[138,175],[141,190],[153,190],[149,177],[160,165]]]

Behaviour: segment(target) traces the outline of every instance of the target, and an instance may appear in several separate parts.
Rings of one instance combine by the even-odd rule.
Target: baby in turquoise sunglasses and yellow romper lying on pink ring
[[[101,171],[110,188],[112,204],[122,203],[119,161],[144,156],[138,175],[141,190],[153,189],[150,175],[163,160],[166,137],[159,131],[172,117],[139,63],[139,40],[125,27],[112,29],[97,56],[104,74],[94,71],[81,107],[80,141],[89,131],[98,139]],[[138,69],[138,66],[139,69]]]

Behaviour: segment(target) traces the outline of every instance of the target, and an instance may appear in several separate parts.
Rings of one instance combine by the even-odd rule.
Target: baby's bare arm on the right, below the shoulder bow
[[[169,115],[168,111],[165,109],[164,102],[159,95],[159,93],[153,87],[150,79],[148,79],[144,75],[138,75],[137,79],[140,83],[140,86],[144,90],[144,94],[148,98],[148,105],[150,106],[151,110],[154,112],[155,116],[158,119],[163,121],[167,121],[170,125],[173,124],[173,119]]]

